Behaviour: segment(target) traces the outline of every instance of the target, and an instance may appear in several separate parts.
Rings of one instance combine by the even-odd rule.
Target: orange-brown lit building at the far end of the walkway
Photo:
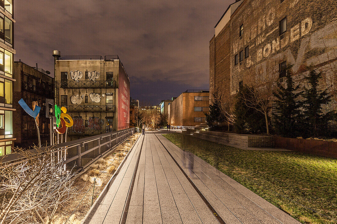
[[[168,124],[171,126],[195,126],[205,123],[209,112],[209,90],[186,90],[168,105]]]

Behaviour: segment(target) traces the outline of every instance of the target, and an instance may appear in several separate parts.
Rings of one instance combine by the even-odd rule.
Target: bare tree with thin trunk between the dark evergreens
[[[266,60],[262,64],[250,66],[245,70],[247,94],[244,100],[247,107],[265,115],[267,134],[269,135],[268,111],[271,107],[275,83],[279,77],[276,60]]]

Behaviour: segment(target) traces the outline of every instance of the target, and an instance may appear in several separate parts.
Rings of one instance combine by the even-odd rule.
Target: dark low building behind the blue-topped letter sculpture
[[[41,107],[38,124],[42,146],[50,143],[50,120],[45,117],[45,99],[54,99],[54,79],[41,68],[33,68],[23,62],[14,62],[13,106],[14,111],[14,147],[29,148],[38,145],[34,119],[19,105],[22,98],[32,108],[36,102]],[[35,104],[36,105],[36,104]]]

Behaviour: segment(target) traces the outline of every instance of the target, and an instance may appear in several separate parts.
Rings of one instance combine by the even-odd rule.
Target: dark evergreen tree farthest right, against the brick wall
[[[332,111],[323,111],[323,105],[331,101],[331,95],[327,89],[318,90],[319,80],[322,73],[317,73],[313,68],[305,78],[308,81],[309,88],[304,87],[302,92],[303,100],[303,118],[304,129],[303,137],[321,137],[327,135],[327,126],[329,120],[333,117]]]

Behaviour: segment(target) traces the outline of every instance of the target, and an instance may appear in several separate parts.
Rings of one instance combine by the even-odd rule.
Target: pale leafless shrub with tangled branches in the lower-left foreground
[[[50,223],[74,195],[72,172],[64,171],[50,147],[17,153],[19,162],[4,162],[6,156],[0,161],[0,223]]]

